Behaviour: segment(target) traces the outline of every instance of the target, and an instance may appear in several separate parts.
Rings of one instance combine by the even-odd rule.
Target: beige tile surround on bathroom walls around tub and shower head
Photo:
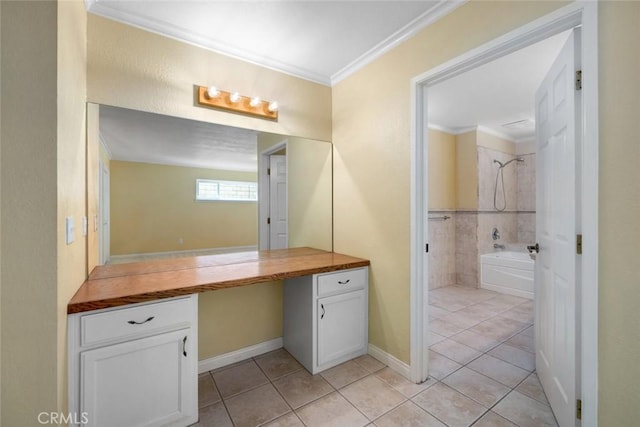
[[[451,284],[478,287],[480,255],[494,252],[494,243],[507,250],[525,251],[535,242],[535,163],[536,155],[520,154],[524,162],[513,162],[503,169],[507,209],[497,212],[493,193],[498,165],[513,154],[479,146],[478,210],[431,210],[430,217],[451,217],[447,221],[429,221],[429,289]],[[498,206],[503,203],[502,184],[498,183]],[[493,228],[500,239],[492,239]]]

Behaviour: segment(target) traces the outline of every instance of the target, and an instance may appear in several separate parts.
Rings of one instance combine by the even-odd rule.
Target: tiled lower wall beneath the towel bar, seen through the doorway
[[[445,216],[449,219],[439,219]],[[451,211],[429,212],[429,289],[456,284],[456,216]]]

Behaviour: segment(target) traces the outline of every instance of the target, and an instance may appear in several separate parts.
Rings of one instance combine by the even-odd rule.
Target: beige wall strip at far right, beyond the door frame
[[[623,426],[640,401],[640,3],[601,2],[599,13],[599,420]]]

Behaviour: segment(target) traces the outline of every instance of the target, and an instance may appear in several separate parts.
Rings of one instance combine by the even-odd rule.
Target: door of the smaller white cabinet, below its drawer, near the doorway
[[[318,366],[340,363],[366,350],[365,291],[318,299]]]

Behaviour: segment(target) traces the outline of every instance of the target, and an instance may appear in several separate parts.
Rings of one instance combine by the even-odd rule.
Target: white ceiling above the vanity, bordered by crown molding
[[[89,12],[332,85],[466,0],[86,0]]]

